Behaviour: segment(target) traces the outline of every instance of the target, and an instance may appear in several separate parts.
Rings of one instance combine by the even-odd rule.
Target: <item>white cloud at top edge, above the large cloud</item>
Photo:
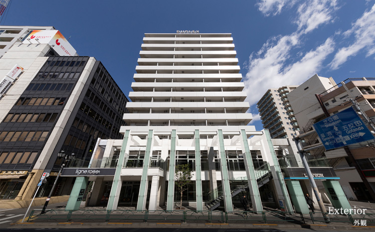
[[[306,1],[298,6],[299,16],[295,23],[298,25],[298,30],[307,33],[321,24],[331,22],[335,10],[337,10],[336,0]]]

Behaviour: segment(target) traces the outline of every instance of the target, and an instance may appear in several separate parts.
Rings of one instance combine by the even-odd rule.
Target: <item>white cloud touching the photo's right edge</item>
[[[375,53],[375,4],[352,24],[352,28],[344,32],[345,36],[350,36],[351,34],[355,35],[354,43],[339,49],[330,63],[332,69],[338,69],[340,65],[363,48],[368,48],[366,56]]]

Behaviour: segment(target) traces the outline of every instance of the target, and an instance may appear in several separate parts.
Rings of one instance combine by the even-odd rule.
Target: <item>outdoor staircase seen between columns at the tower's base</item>
[[[262,187],[263,185],[267,184],[271,179],[271,170],[269,168],[268,163],[263,164],[259,168],[255,169],[255,178],[258,183],[258,188]],[[246,183],[242,185],[234,186],[235,180],[230,180],[230,195],[231,197],[236,196],[237,194],[246,191],[249,188],[249,184],[247,180]],[[233,186],[233,188],[232,188]],[[208,210],[212,211],[220,206],[220,202],[223,201],[224,195],[222,192],[222,185],[219,185],[216,189],[208,192],[206,194],[206,207]]]

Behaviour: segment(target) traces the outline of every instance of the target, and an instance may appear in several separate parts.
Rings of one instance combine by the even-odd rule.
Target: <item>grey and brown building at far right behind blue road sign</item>
[[[362,110],[375,117],[375,78],[349,78],[336,84],[332,77],[314,75],[288,94],[288,99],[304,137],[303,148],[321,145],[313,124],[342,110],[352,107],[356,100]],[[368,125],[369,126],[369,125]],[[370,127],[369,127],[370,128]],[[326,151],[318,148],[309,151],[316,158],[328,159],[340,177],[340,184],[348,199],[375,200],[374,140]]]

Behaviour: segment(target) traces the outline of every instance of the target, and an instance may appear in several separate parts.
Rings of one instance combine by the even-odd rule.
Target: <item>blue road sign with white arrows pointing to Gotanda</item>
[[[313,126],[326,150],[374,139],[352,107]]]

